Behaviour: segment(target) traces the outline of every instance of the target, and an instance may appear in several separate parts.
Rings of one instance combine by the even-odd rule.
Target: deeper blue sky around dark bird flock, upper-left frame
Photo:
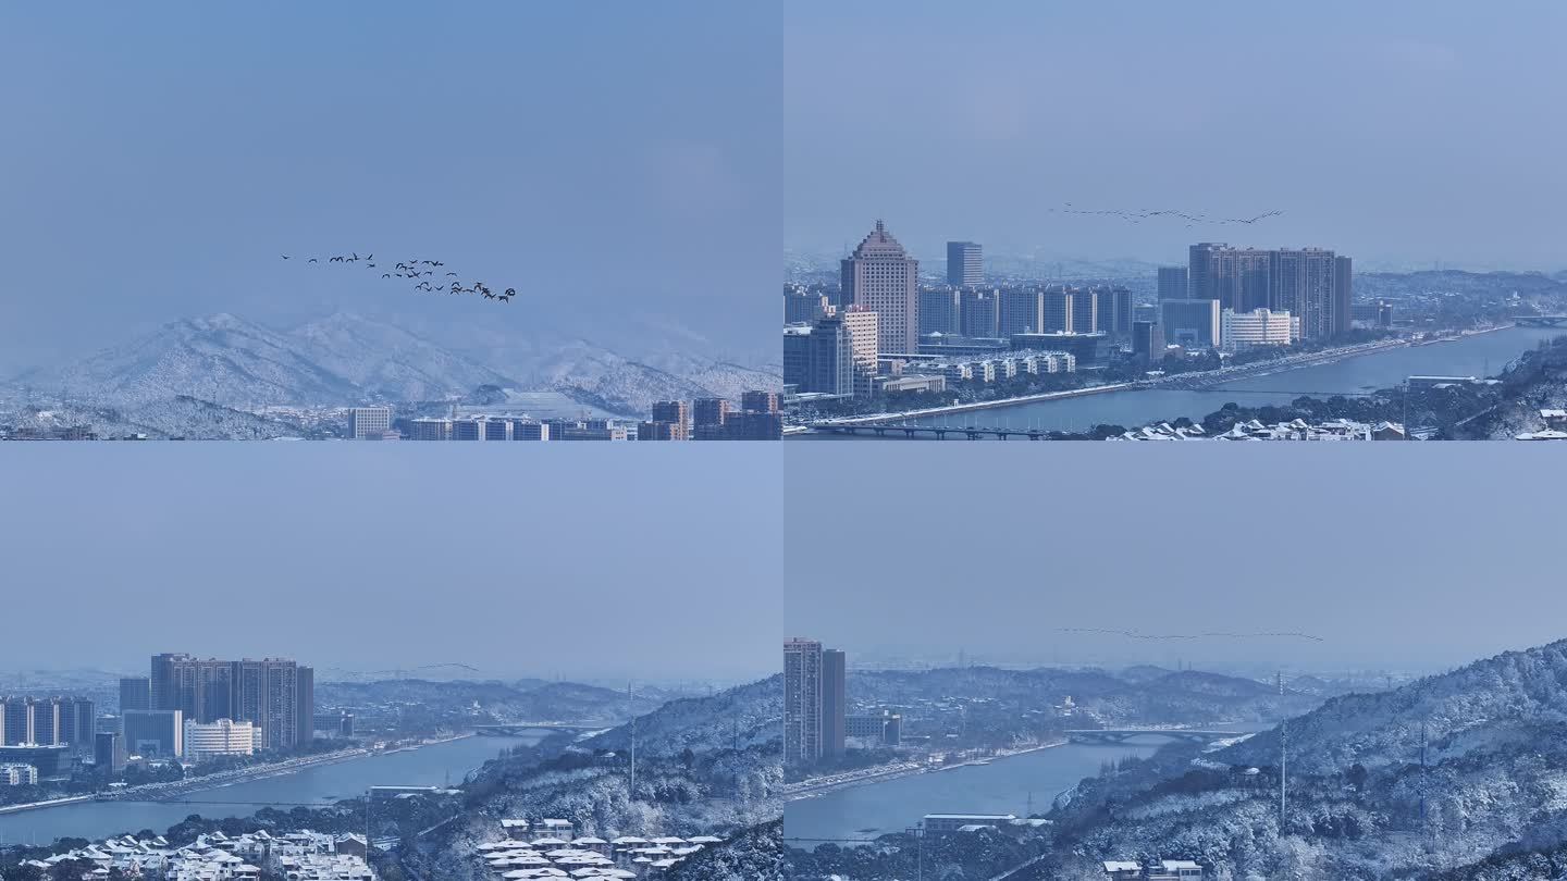
[[[779,47],[719,0],[5,5],[0,375],[212,312],[771,353]],[[349,249],[520,303],[279,259]]]

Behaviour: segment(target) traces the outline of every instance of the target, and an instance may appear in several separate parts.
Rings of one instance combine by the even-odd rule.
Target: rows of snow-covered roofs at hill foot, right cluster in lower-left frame
[[[506,881],[663,878],[689,856],[724,842],[715,836],[622,836],[614,840],[572,837],[574,825],[569,820],[542,820],[537,829],[527,820],[508,818],[500,823],[506,839],[481,843],[478,856],[494,878]]]

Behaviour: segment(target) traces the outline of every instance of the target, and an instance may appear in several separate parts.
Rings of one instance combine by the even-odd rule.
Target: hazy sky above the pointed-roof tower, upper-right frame
[[[1567,6],[785,6],[785,245],[878,216],[1042,257],[1185,259],[1192,241],[1561,270]],[[1180,208],[1249,227],[1051,215]]]

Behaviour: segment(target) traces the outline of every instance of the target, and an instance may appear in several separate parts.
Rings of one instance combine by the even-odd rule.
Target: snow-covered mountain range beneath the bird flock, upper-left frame
[[[475,337],[442,345],[348,312],[288,329],[219,314],[14,376],[0,398],[16,403],[20,423],[41,428],[78,420],[149,434],[265,437],[299,430],[265,408],[442,401],[489,386],[559,392],[584,406],[646,417],[655,400],[738,400],[744,389],[780,382],[773,365],[680,353],[632,359],[586,340],[506,346]]]

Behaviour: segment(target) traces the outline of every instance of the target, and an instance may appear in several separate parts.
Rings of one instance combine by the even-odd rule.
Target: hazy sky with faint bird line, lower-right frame
[[[965,649],[1312,669],[1442,668],[1567,636],[1561,494],[1545,483],[1559,453],[1048,447],[788,445],[788,632],[851,662]],[[1324,641],[1149,643],[1062,627]]]

